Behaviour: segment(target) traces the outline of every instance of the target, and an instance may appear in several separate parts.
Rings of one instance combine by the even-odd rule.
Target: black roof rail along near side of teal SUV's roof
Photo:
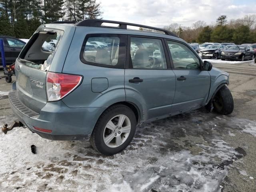
[[[102,23],[113,23],[113,24],[119,24],[118,27],[112,27],[112,26],[102,26]],[[139,25],[139,24],[134,24],[134,23],[126,23],[126,22],[119,22],[119,21],[110,21],[110,20],[102,20],[102,19],[85,19],[80,22],[76,23],[76,26],[87,26],[87,27],[108,27],[108,28],[120,28],[120,29],[127,29],[127,26],[136,26],[136,27],[142,27],[142,28],[148,28],[148,29],[153,29],[153,30],[158,30],[164,32],[166,35],[171,35],[174,37],[178,37],[176,34],[165,30],[161,28],[156,28],[156,27],[150,27],[146,25]]]

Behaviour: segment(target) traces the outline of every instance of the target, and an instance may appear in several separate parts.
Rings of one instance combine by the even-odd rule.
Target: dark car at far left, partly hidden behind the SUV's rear
[[[18,38],[5,35],[0,35],[0,39],[3,39],[4,41],[6,65],[10,65],[15,62],[26,43]],[[2,58],[0,54],[0,68],[2,68],[2,66]]]

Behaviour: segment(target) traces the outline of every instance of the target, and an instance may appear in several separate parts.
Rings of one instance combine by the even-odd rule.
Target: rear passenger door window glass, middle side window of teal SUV
[[[129,67],[167,69],[162,40],[131,37]]]

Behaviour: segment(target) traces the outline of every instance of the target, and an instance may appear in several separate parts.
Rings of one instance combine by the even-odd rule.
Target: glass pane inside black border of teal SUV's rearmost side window
[[[119,48],[118,36],[91,36],[84,42],[82,58],[95,65],[116,66],[120,59]]]

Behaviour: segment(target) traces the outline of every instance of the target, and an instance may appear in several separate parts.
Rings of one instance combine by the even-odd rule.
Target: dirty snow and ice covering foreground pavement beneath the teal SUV
[[[2,116],[0,124],[13,119]],[[14,128],[0,134],[0,191],[220,191],[228,167],[243,157],[222,136],[255,126],[196,110],[137,128],[130,146],[114,156],[88,142],[50,141]]]

